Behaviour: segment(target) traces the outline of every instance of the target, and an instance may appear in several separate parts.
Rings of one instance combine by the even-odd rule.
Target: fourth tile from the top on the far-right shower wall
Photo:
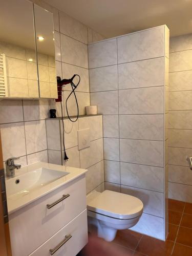
[[[192,91],[169,92],[169,110],[192,110]]]

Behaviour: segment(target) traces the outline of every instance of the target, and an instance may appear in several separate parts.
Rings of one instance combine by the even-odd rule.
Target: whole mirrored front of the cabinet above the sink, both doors
[[[0,99],[57,98],[53,14],[6,0],[0,31]]]

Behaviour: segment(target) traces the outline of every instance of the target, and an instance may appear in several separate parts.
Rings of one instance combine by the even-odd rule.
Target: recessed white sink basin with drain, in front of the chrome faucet
[[[31,172],[18,175],[7,180],[7,197],[10,199],[20,198],[68,174],[67,172],[41,167]]]

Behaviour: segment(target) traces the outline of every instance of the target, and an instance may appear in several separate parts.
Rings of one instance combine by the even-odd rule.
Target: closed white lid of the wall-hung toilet
[[[143,203],[136,197],[104,190],[95,198],[88,199],[87,208],[117,219],[133,219],[142,214]]]

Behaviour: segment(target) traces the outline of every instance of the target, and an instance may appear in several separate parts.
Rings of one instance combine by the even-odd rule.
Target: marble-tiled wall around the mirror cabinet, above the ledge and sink
[[[74,73],[81,76],[76,95],[79,113],[84,114],[85,106],[90,104],[87,44],[88,41],[92,42],[103,37],[43,1],[33,2],[53,12],[56,72],[61,78],[69,78]],[[65,99],[69,94],[68,90],[70,90],[69,85],[63,93]],[[55,104],[54,100],[0,101],[4,161],[13,156],[20,157],[16,162],[22,165],[48,161],[45,118],[49,117],[49,108],[55,107],[57,116],[60,116],[60,103]],[[69,101],[69,113],[76,114],[74,100]]]

